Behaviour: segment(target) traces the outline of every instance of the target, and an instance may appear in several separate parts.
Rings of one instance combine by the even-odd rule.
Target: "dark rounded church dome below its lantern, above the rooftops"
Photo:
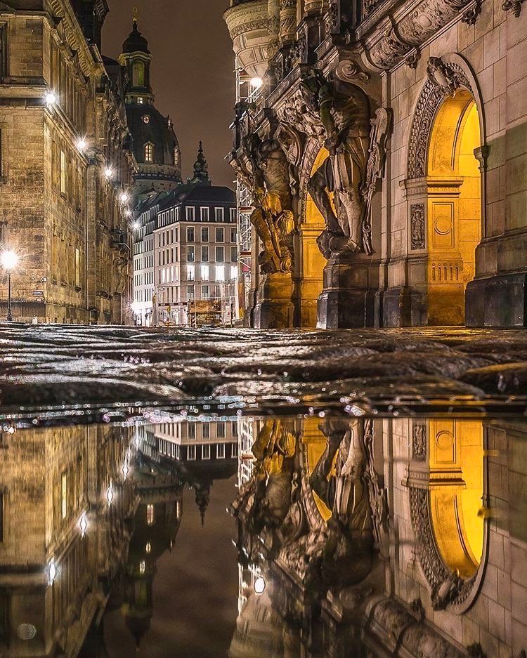
[[[178,138],[168,117],[148,103],[129,103],[126,117],[139,164],[178,166]]]

